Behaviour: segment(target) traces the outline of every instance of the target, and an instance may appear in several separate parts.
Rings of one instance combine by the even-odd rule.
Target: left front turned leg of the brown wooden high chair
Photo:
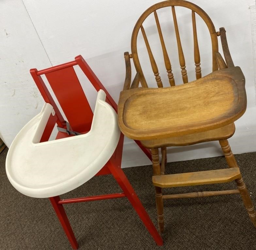
[[[158,148],[154,148],[151,150],[152,154],[152,166],[153,166],[153,174],[160,175],[160,163],[159,163],[159,153]],[[157,222],[159,231],[164,232],[164,202],[162,195],[162,188],[155,187],[155,200],[156,200],[156,212],[157,212]]]

